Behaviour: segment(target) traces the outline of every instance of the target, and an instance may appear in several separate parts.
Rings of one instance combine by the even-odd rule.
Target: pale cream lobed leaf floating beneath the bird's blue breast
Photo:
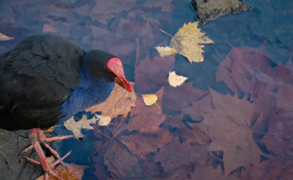
[[[66,122],[64,122],[64,126],[66,129],[70,130],[73,135],[79,139],[84,137],[81,133],[81,129],[94,129],[91,127],[89,124],[91,123],[96,123],[96,122],[101,122],[101,126],[108,125],[111,121],[111,118],[109,116],[102,116],[102,115],[96,115],[91,119],[87,119],[86,115],[84,114],[82,119],[79,121],[75,121],[73,117],[68,119]]]

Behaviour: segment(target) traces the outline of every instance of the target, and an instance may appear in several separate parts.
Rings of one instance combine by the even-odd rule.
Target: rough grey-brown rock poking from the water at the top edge
[[[239,13],[251,9],[243,0],[191,0],[197,19],[205,24],[228,13]]]

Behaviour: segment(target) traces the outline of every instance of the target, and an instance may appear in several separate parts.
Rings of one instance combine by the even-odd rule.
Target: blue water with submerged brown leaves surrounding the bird
[[[290,179],[292,140],[280,136],[293,137],[293,66],[289,60],[293,57],[293,3],[246,2],[251,10],[198,25],[214,44],[205,45],[204,62],[190,64],[179,54],[160,63],[153,48],[168,45],[171,40],[159,28],[174,35],[184,23],[197,21],[188,0],[0,0],[0,33],[14,37],[0,42],[0,53],[26,36],[57,33],[86,50],[101,49],[118,56],[127,79],[139,81],[137,96],[158,93],[164,87],[161,99],[158,95],[160,110],[141,110],[166,116],[156,128],[171,133],[168,143],[164,144],[168,135],[143,132],[142,127],[132,132],[128,127],[107,143],[109,138],[98,130],[113,137],[113,127],[97,126],[93,131],[82,131],[83,141],[54,143],[61,154],[73,150],[66,162],[89,166],[84,180],[197,180],[210,178],[207,174],[215,174],[214,179],[218,179],[231,172],[229,179]],[[188,77],[187,82],[177,89],[168,86],[166,79],[171,70]],[[136,112],[141,115],[137,121],[146,121],[149,114],[140,113]],[[114,122],[118,126],[123,120],[130,124],[131,118],[130,113]],[[56,127],[54,133],[71,134],[63,127]],[[137,139],[145,145],[138,145]],[[143,156],[135,154],[144,151],[147,153]],[[256,171],[259,173],[253,174]]]

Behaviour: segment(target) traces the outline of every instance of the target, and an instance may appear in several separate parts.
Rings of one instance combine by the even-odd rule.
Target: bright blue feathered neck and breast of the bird
[[[114,88],[114,83],[105,80],[94,80],[86,77],[84,69],[81,70],[81,83],[69,95],[68,99],[60,107],[63,122],[79,111],[90,108],[104,102]]]

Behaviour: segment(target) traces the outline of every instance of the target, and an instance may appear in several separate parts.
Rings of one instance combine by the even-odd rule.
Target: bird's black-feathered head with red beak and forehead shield
[[[83,57],[84,71],[87,77],[115,82],[122,88],[132,91],[126,79],[122,62],[119,58],[105,51],[91,50]]]

